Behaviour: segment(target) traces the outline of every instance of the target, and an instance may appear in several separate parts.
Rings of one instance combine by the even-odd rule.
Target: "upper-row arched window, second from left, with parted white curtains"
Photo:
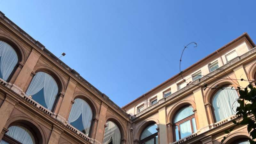
[[[56,81],[45,72],[37,72],[26,92],[32,99],[52,111],[58,94]]]

